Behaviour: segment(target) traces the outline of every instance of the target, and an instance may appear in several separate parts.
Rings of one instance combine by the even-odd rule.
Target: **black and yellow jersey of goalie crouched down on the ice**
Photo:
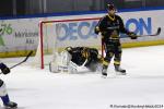
[[[101,63],[101,56],[98,50],[89,47],[67,47],[66,50],[71,56],[71,62],[81,66],[84,65],[90,71],[95,72],[98,63]]]

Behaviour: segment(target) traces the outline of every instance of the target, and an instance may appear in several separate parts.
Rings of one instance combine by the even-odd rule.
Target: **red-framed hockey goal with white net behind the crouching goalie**
[[[99,17],[42,21],[35,65],[44,69],[54,61],[56,53],[66,47],[99,47],[101,38],[94,34]]]

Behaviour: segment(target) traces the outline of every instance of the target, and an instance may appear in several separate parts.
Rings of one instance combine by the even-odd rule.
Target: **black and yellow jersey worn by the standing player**
[[[124,22],[119,15],[110,16],[109,14],[102,17],[95,28],[104,36],[104,40],[119,39],[119,34],[129,32],[125,28]]]

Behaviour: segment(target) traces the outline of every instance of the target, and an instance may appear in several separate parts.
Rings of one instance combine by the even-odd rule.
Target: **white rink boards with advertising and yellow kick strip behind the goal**
[[[159,36],[140,37],[131,40],[126,35],[121,35],[122,47],[141,47],[164,44],[164,21],[160,17],[164,10],[118,12],[126,28],[136,32],[138,35],[154,34],[157,27],[162,28]],[[0,21],[0,57],[25,56],[30,50],[36,50],[39,40],[40,21],[62,21],[63,33],[58,37],[58,47],[67,46],[89,46],[101,48],[101,36],[94,34],[94,27],[98,19],[105,13],[82,14],[82,15],[62,15],[62,16],[42,16],[42,17],[16,17]],[[66,22],[65,20],[74,20]],[[75,21],[78,20],[78,21]],[[58,24],[58,22],[56,22]],[[56,37],[55,31],[48,31],[50,37]],[[48,47],[44,47],[49,49]]]

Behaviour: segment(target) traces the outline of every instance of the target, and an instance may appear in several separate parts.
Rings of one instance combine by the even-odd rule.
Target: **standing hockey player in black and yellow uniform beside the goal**
[[[108,14],[102,17],[95,27],[95,34],[102,34],[102,41],[105,46],[106,57],[103,61],[102,74],[107,76],[107,68],[114,58],[115,71],[118,74],[126,74],[126,70],[120,68],[121,45],[119,34],[127,34],[131,39],[137,39],[137,35],[125,28],[124,22],[119,15],[116,15],[116,9],[113,4],[108,4]]]

